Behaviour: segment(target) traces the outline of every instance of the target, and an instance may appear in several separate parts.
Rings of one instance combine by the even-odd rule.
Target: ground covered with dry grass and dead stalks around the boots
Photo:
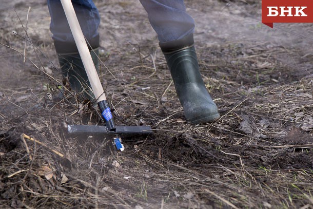
[[[62,82],[46,2],[4,1],[1,208],[313,208],[312,24],[269,29],[259,1],[186,1],[221,112],[191,125],[139,1],[95,3],[115,123],[154,134],[123,138],[122,153],[68,135],[67,124],[103,123],[80,95],[49,103]]]

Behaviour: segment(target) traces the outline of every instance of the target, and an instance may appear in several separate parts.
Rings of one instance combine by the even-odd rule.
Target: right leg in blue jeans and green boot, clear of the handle
[[[187,121],[201,124],[220,117],[202,80],[195,53],[193,18],[183,0],[141,0],[174,81]]]

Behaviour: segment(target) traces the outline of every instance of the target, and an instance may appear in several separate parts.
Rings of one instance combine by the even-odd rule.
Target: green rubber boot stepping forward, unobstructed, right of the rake
[[[202,80],[193,35],[160,43],[187,121],[203,124],[220,117]]]

